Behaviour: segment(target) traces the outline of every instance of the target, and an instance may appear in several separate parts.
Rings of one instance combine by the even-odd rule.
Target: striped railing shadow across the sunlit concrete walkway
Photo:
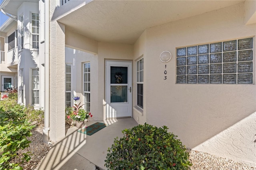
[[[70,128],[70,130],[73,130],[73,132],[54,144],[38,166],[38,170],[60,169],[86,144],[86,134],[77,132],[76,127]]]

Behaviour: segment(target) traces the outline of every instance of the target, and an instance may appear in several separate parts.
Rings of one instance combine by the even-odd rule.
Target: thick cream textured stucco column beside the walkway
[[[49,137],[52,141],[65,136],[65,26],[51,20],[55,3],[50,1]]]

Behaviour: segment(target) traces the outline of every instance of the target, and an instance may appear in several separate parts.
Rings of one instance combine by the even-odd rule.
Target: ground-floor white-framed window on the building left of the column
[[[32,104],[39,104],[39,69],[32,69]]]

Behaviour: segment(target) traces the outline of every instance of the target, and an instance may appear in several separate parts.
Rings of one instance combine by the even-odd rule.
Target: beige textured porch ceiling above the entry
[[[146,28],[241,2],[244,0],[94,0],[58,21],[98,42],[134,44]]]

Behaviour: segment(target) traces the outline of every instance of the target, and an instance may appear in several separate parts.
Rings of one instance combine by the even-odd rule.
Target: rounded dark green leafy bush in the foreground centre
[[[105,166],[111,170],[189,169],[192,164],[185,146],[167,129],[145,123],[122,130],[124,137],[115,138],[108,148]]]

